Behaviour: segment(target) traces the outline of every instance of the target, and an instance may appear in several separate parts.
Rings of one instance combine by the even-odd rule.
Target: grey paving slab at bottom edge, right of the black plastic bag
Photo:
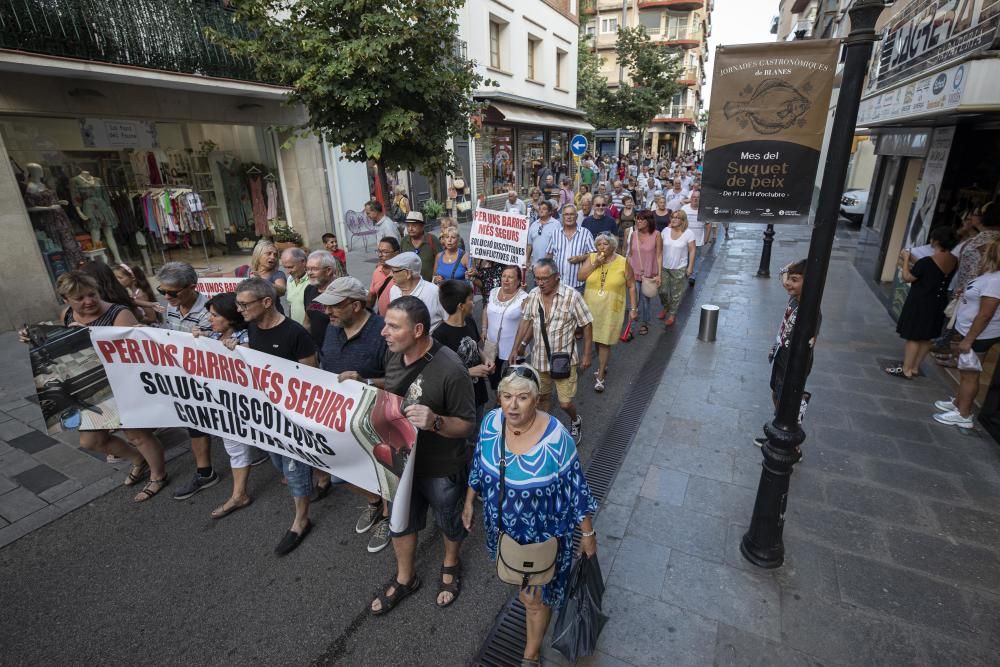
[[[717,623],[615,585],[604,592],[610,616],[597,649],[637,667],[704,667],[715,654]]]

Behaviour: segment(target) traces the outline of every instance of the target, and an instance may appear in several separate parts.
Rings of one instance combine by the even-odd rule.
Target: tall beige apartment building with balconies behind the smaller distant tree
[[[602,73],[609,86],[621,85],[623,78],[615,57],[615,39],[620,25],[641,25],[652,41],[677,49],[682,62],[678,78],[681,90],[652,119],[642,148],[647,153],[664,157],[693,150],[709,56],[707,39],[712,32],[712,0],[626,0],[624,3],[584,0],[581,15],[584,32],[593,36],[594,46],[604,58]],[[628,72],[622,74],[627,82]]]

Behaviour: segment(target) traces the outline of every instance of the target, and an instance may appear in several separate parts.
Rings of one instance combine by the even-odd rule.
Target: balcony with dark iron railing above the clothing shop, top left
[[[205,28],[246,38],[222,0],[0,0],[0,49],[261,82]]]

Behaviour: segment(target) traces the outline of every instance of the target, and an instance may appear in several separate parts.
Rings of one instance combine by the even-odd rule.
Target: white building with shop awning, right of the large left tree
[[[469,0],[459,17],[467,57],[497,85],[475,93],[476,133],[456,139],[474,199],[499,206],[508,188],[527,196],[540,178],[575,176],[569,149],[593,130],[576,108],[577,0]],[[467,177],[467,178],[466,178]]]

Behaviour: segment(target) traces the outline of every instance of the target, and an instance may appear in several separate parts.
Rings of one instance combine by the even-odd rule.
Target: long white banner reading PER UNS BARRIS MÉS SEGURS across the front
[[[399,396],[178,331],[100,327],[91,336],[125,428],[198,429],[390,500],[408,488],[417,434]],[[393,503],[393,530],[405,527],[408,500]]]

